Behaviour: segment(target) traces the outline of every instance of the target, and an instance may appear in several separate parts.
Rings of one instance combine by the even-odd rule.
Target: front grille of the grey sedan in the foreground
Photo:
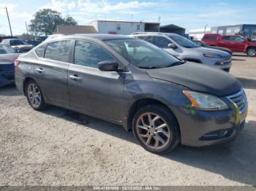
[[[247,98],[244,93],[244,90],[240,90],[238,93],[227,96],[227,98],[232,101],[240,111],[240,114],[244,112],[247,106]]]

